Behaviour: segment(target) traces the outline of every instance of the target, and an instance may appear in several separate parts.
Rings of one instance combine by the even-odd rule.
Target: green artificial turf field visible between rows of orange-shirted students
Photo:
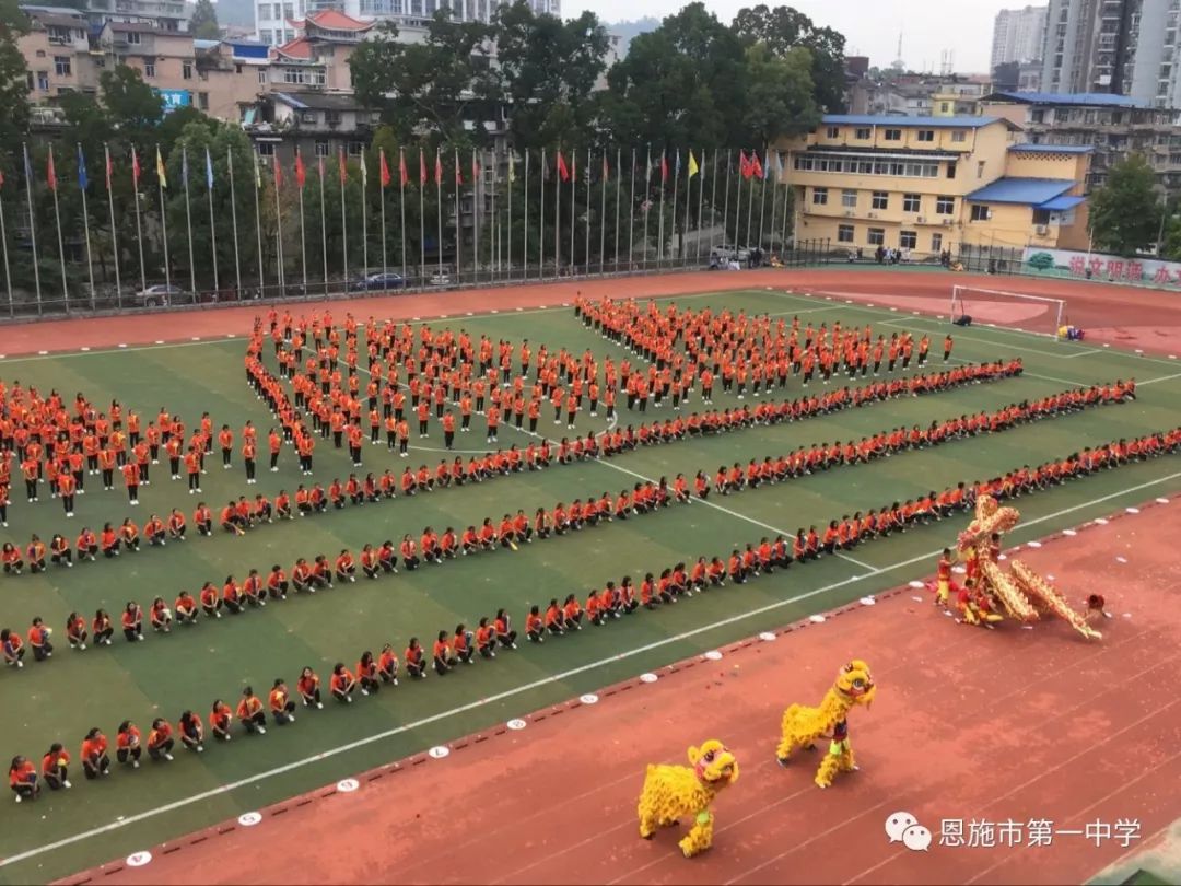
[[[862,326],[874,334],[911,330],[918,337],[929,332],[937,345],[946,325],[906,312],[846,305],[770,292],[727,293],[681,298],[692,307],[710,305],[748,312],[771,312],[802,321]],[[443,302],[441,302],[442,305]],[[338,319],[341,312],[334,311]],[[167,318],[183,324],[183,317]],[[588,331],[570,308],[524,311],[436,321],[433,326],[466,327],[474,335],[485,333],[497,340],[528,338],[535,346],[566,346],[575,353],[590,347],[596,354],[625,352]],[[159,406],[180,413],[193,426],[209,411],[215,426],[228,423],[237,434],[246,419],[263,431],[270,416],[247,386],[242,357],[242,330],[236,339],[187,345],[129,348],[68,356],[31,357],[0,361],[7,384],[20,380],[41,391],[56,387],[67,402],[84,391],[96,404],[118,398],[146,419]],[[167,333],[162,333],[167,334]],[[792,424],[743,430],[693,442],[653,447],[609,461],[582,462],[541,473],[497,478],[477,487],[448,489],[412,500],[398,497],[378,504],[346,507],[341,512],[275,523],[252,530],[246,538],[196,535],[191,523],[184,543],[164,549],[124,554],[116,561],[99,559],[73,569],[51,568],[44,575],[19,579],[0,576],[0,625],[28,626],[41,615],[57,632],[58,652],[48,663],[26,662],[20,672],[0,672],[5,727],[0,756],[15,754],[40,760],[50,743],[61,741],[77,758],[84,732],[100,727],[112,740],[125,718],[146,729],[155,716],[175,722],[184,708],[207,715],[214,698],[233,705],[241,688],[253,684],[265,697],[275,677],[294,686],[299,669],[309,664],[327,677],[337,660],[352,666],[363,650],[377,652],[389,641],[398,651],[409,636],[424,643],[442,628],[459,621],[474,625],[498,606],[509,607],[521,628],[531,602],[576,592],[585,598],[607,579],[659,571],[698,554],[729,553],[736,542],[755,541],[777,530],[794,533],[800,525],[827,522],[831,517],[894,499],[907,499],[931,488],[941,489],[960,480],[992,476],[1023,463],[1063,456],[1084,445],[1121,436],[1170,426],[1179,422],[1181,371],[1176,361],[1094,348],[1085,344],[1059,344],[1023,333],[973,327],[955,331],[955,358],[985,360],[1020,357],[1025,374],[1019,379],[973,385],[952,392],[894,400],[829,417]],[[52,344],[46,346],[52,347]],[[274,369],[274,361],[267,351]],[[632,357],[635,361],[634,356]],[[912,372],[913,372],[912,367]],[[112,612],[128,599],[145,606],[157,595],[171,605],[182,587],[196,592],[204,580],[221,585],[227,574],[241,580],[250,567],[263,573],[272,563],[289,569],[298,556],[311,559],[340,548],[357,552],[365,542],[417,538],[422,527],[462,529],[523,508],[531,514],[559,501],[618,493],[637,476],[670,480],[678,471],[687,477],[698,469],[712,471],[720,463],[745,462],[751,457],[778,455],[805,443],[860,438],[864,434],[898,424],[928,424],[981,409],[997,409],[1029,397],[1056,392],[1076,384],[1135,376],[1138,399],[1019,426],[988,437],[947,443],[935,450],[896,455],[869,465],[839,468],[785,484],[744,491],[711,504],[677,506],[654,515],[614,522],[573,533],[566,538],[522,546],[517,552],[498,551],[459,558],[445,567],[424,567],[412,574],[355,585],[338,586],[314,598],[275,602],[265,610],[220,621],[202,619],[190,628],[174,628],[172,636],[149,636],[145,643],[128,644],[117,636],[111,649],[72,652],[61,625],[71,610],[87,617],[96,607]],[[862,383],[859,379],[859,383]],[[800,392],[794,379],[785,392]],[[816,390],[816,383],[813,385]],[[746,400],[750,403],[750,398]],[[716,392],[717,406],[731,402]],[[625,405],[622,402],[620,405]],[[699,405],[698,400],[690,406]],[[660,410],[657,415],[667,412]],[[652,411],[648,413],[653,415]],[[549,432],[548,410],[540,430]],[[580,417],[579,429],[601,430],[605,419]],[[624,411],[622,421],[628,416]],[[442,448],[436,436],[418,441]],[[554,429],[565,434],[565,429]],[[482,450],[483,421],[474,419],[469,435],[457,445]],[[502,425],[501,445],[528,442],[528,437]],[[399,460],[385,447],[364,450],[363,471],[386,467],[399,473],[406,461],[435,465],[439,451],[413,452]],[[234,470],[223,471],[215,454],[203,478],[203,499],[216,508],[239,494],[255,490],[273,497],[280,488],[294,491],[300,482],[295,457],[285,448],[281,471],[262,469],[256,487],[244,486],[240,458]],[[353,470],[346,452],[321,442],[315,454],[315,478],[325,486]],[[113,491],[96,489],[87,478],[87,494],[78,499],[77,516],[64,519],[60,503],[43,493],[41,501],[26,504],[15,476],[9,508],[9,527],[0,540],[24,545],[32,532],[48,539],[61,530],[73,540],[83,525],[100,528],[104,521],[119,522],[131,513],[122,482]],[[1027,540],[1056,528],[1133,504],[1144,499],[1181,490],[1181,460],[1175,456],[1102,473],[1050,491],[1023,499],[1024,522],[1012,535]],[[162,516],[171,507],[191,514],[195,499],[184,483],[168,480],[167,464],[152,470],[152,484],[141,489],[133,509],[142,525],[151,512]],[[713,507],[713,503],[720,507]],[[74,787],[64,794],[44,794],[35,803],[12,803],[8,793],[0,802],[0,882],[45,880],[71,873],[158,841],[211,825],[241,812],[259,808],[285,796],[308,790],[348,774],[503,722],[549,703],[589,691],[626,676],[651,670],[678,658],[711,649],[807,613],[827,610],[850,599],[890,587],[901,580],[933,571],[935,552],[954,540],[959,523],[941,523],[907,532],[885,541],[873,541],[844,558],[826,558],[817,563],[777,572],[743,586],[694,597],[677,606],[644,612],[611,624],[585,630],[576,637],[556,638],[542,647],[524,643],[516,652],[495,662],[463,667],[444,679],[431,676],[420,684],[404,679],[397,689],[358,698],[347,709],[326,704],[324,711],[301,709],[298,723],[269,729],[266,736],[236,734],[229,745],[209,742],[205,753],[176,751],[176,762],[152,764],[141,770],[113,773],[100,783],[87,782],[80,769]],[[1078,591],[1082,591],[1079,588]],[[1075,594],[1078,595],[1078,594]],[[833,630],[840,630],[835,627]],[[150,632],[149,632],[150,633]],[[1070,641],[1063,634],[1062,641]],[[866,651],[869,656],[870,651]],[[76,763],[77,769],[77,763]],[[230,786],[231,789],[223,789]],[[122,825],[120,825],[122,822]],[[116,826],[116,827],[107,827]],[[98,833],[96,833],[98,832]],[[85,836],[83,836],[85,835]],[[52,851],[39,851],[58,841]],[[293,847],[293,852],[296,849]],[[26,853],[30,853],[26,855]]]

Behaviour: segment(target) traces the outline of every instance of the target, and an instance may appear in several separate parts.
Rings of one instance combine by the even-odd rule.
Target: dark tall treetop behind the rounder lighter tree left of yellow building
[[[817,27],[790,6],[770,8],[763,4],[740,9],[732,28],[743,43],[763,43],[778,57],[801,47],[809,50],[816,104],[830,113],[844,110],[843,34]]]

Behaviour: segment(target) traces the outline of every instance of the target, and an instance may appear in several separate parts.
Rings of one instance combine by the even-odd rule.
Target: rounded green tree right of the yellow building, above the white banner
[[[1156,241],[1161,224],[1156,176],[1138,154],[1111,167],[1107,183],[1090,197],[1095,246],[1117,255],[1134,255]]]

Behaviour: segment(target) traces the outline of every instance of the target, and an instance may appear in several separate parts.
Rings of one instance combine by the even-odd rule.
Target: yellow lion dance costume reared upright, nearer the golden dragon
[[[792,704],[783,712],[783,740],[775,751],[779,766],[785,767],[792,751],[798,748],[813,750],[817,738],[829,738],[828,754],[816,770],[816,784],[828,788],[837,773],[856,771],[846,718],[854,705],[863,704],[868,708],[876,693],[877,686],[869,673],[869,665],[860,658],[849,662],[836,675],[836,682],[818,708]]]

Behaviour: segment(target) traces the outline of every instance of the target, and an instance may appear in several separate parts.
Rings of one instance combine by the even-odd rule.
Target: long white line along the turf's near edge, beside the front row
[[[1109,495],[1103,495],[1100,496],[1098,499],[1092,499],[1090,501],[1085,501],[1079,504],[1072,504],[1069,508],[1063,508],[1062,510],[1056,510],[1052,514],[1046,514],[1044,516],[1035,517],[1033,520],[1025,520],[1020,523],[1020,528],[1024,529],[1031,526],[1037,526],[1049,520],[1055,520],[1059,516],[1072,514],[1076,510],[1082,510],[1083,508],[1089,508],[1095,504],[1102,504],[1103,502],[1111,501],[1113,499],[1118,499],[1124,495],[1130,495],[1131,493],[1138,493],[1142,489],[1149,489],[1154,486],[1160,486],[1161,483],[1167,483],[1169,481],[1177,478],[1181,478],[1181,471],[1176,471],[1174,474],[1169,474],[1163,477],[1157,477],[1156,480],[1150,480],[1144,483],[1138,483],[1136,486],[1128,487],[1127,489],[1122,489],[1117,493],[1110,493]],[[211,800],[214,797],[221,796],[222,794],[228,794],[230,791],[239,790],[240,788],[247,787],[248,784],[255,784],[257,782],[273,778],[276,775],[283,775],[286,773],[291,773],[296,769],[302,769],[306,766],[319,763],[324,760],[328,760],[329,757],[335,757],[341,754],[347,754],[348,751],[367,747],[376,742],[385,741],[386,738],[392,738],[393,736],[402,735],[403,732],[410,732],[416,729],[420,729],[423,727],[430,725],[431,723],[450,719],[451,717],[458,716],[461,714],[466,714],[468,711],[478,710],[489,704],[496,704],[498,702],[503,702],[507,698],[514,698],[515,696],[522,695],[524,692],[530,692],[542,686],[548,686],[553,683],[561,683],[563,680],[569,679],[570,677],[576,677],[580,673],[586,673],[588,671],[598,670],[599,667],[602,667],[608,664],[615,664],[616,662],[622,662],[625,659],[633,658],[634,656],[644,654],[645,652],[652,652],[653,650],[661,649],[673,643],[681,643],[684,640],[691,639],[709,631],[713,631],[715,628],[718,627],[726,627],[729,625],[744,621],[745,619],[755,618],[756,615],[763,615],[766,614],[768,612],[774,612],[784,606],[790,606],[792,604],[801,602],[802,600],[816,597],[817,594],[828,593],[829,591],[836,591],[837,588],[847,587],[848,585],[854,585],[857,584],[859,581],[864,581],[866,579],[876,578],[877,575],[883,575],[895,569],[901,569],[906,566],[913,566],[914,563],[929,561],[932,558],[939,554],[939,551],[941,551],[941,548],[935,551],[929,551],[925,554],[919,554],[918,556],[908,558],[907,560],[900,560],[888,566],[882,566],[872,569],[870,572],[863,575],[854,575],[848,579],[842,579],[841,581],[834,581],[829,585],[813,588],[811,591],[805,591],[803,593],[795,594],[794,597],[784,598],[782,600],[776,600],[775,602],[759,606],[757,608],[739,613],[737,615],[730,615],[727,618],[720,619],[709,625],[703,625],[700,627],[694,627],[690,631],[684,631],[673,637],[665,637],[663,639],[644,644],[642,646],[637,646],[635,649],[619,652],[607,658],[601,658],[596,662],[589,662],[585,665],[572,667],[567,671],[562,671],[561,673],[554,673],[548,677],[542,677],[541,679],[533,680],[531,683],[526,683],[520,686],[504,690],[503,692],[497,692],[496,695],[489,696],[487,698],[481,698],[475,702],[468,702],[466,704],[462,704],[445,711],[439,711],[438,714],[432,714],[428,717],[423,717],[412,723],[405,723],[400,727],[394,727],[393,729],[387,729],[383,732],[377,732],[374,735],[366,736],[365,738],[358,738],[355,741],[348,742],[347,744],[340,744],[337,745],[335,748],[329,748],[327,750],[320,751],[319,754],[313,754],[301,760],[294,760],[291,763],[285,763],[283,766],[278,766],[261,773],[255,773],[254,775],[249,775],[244,778],[239,778],[237,781],[221,784],[216,788],[211,788],[210,790],[204,790],[200,794],[194,794],[191,796],[182,797],[181,800],[174,800],[170,803],[164,803],[163,806],[157,806],[152,809],[145,809],[142,813],[128,815],[126,817],[119,819],[118,821],[112,821],[107,825],[100,825],[98,827],[90,828],[89,830],[80,830],[77,834],[72,834],[71,836],[66,836],[60,840],[54,840],[53,842],[44,843],[43,846],[37,846],[31,849],[26,849],[25,852],[17,853],[15,855],[9,855],[8,858],[0,859],[0,868],[7,867],[9,865],[15,865],[21,861],[26,861],[38,855],[44,855],[47,852],[54,852],[65,846],[72,846],[73,843],[81,842],[83,840],[90,840],[94,836],[102,836],[103,834],[109,834],[115,830],[120,830],[122,828],[125,828],[129,825],[136,825],[141,821],[146,821],[158,815],[164,815],[167,813],[175,812],[176,809],[183,809],[184,807],[193,806],[194,803],[201,803],[207,800]]]

